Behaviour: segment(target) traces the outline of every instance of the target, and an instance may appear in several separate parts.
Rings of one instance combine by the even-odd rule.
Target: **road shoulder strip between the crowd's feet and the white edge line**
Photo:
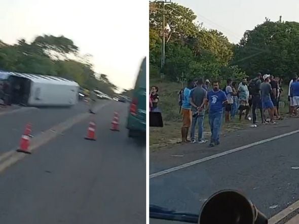
[[[277,124],[257,124],[257,127],[251,127],[248,123],[243,129],[221,135],[220,145],[213,148],[209,148],[208,143],[203,145],[177,144],[171,148],[161,148],[158,151],[151,151],[150,147],[150,172],[205,158],[297,129],[299,129],[299,118],[285,118],[278,121]]]

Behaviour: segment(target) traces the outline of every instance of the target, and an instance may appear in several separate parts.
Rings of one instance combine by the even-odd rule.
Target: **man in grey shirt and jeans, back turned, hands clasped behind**
[[[200,144],[207,141],[203,138],[203,122],[205,115],[205,99],[207,98],[207,91],[203,88],[203,79],[197,81],[197,86],[191,90],[190,104],[192,105],[192,124],[191,124],[191,141],[195,141],[195,127],[198,124],[198,142]]]

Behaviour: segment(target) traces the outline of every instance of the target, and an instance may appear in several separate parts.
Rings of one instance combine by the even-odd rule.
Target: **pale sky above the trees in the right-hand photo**
[[[217,29],[231,42],[239,42],[246,30],[253,29],[265,21],[299,22],[298,0],[173,0],[188,7],[198,16],[206,28]]]

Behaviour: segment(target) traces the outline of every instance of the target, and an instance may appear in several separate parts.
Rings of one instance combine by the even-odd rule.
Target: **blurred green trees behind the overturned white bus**
[[[13,45],[0,40],[0,70],[60,76],[114,95],[117,86],[107,75],[94,72],[89,57],[80,56],[79,48],[64,36],[38,36],[31,43],[20,39]]]

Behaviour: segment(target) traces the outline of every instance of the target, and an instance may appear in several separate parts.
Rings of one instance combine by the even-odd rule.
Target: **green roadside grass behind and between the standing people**
[[[151,79],[150,85],[157,85],[159,87],[159,108],[162,111],[162,117],[164,121],[164,127],[150,127],[149,128],[149,147],[152,152],[158,151],[162,148],[171,148],[177,145],[177,142],[181,140],[180,128],[181,128],[181,115],[179,114],[179,106],[177,100],[177,94],[181,88],[180,83],[161,81],[160,79]],[[287,89],[284,86],[283,89]],[[287,93],[285,91],[285,93]],[[284,103],[284,107],[281,105],[279,108],[280,115],[284,117],[288,112],[287,94],[283,94],[281,102]],[[251,115],[251,111],[249,112]],[[244,116],[243,116],[244,117]],[[239,116],[236,115],[235,119],[232,119],[229,123],[222,123],[222,134],[237,131],[239,129],[251,128],[251,121],[244,120],[239,121]],[[259,110],[257,110],[257,121],[260,120]],[[197,131],[196,131],[197,132]],[[210,127],[208,123],[208,117],[204,119],[204,138],[210,139]]]

